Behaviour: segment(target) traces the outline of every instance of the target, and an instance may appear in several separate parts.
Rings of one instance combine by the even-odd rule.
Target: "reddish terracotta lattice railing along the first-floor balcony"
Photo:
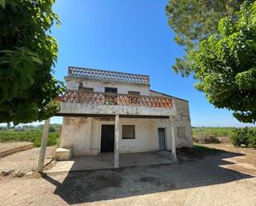
[[[59,97],[59,100],[63,103],[89,103],[101,105],[172,108],[171,98],[121,93],[67,91],[63,96]]]

